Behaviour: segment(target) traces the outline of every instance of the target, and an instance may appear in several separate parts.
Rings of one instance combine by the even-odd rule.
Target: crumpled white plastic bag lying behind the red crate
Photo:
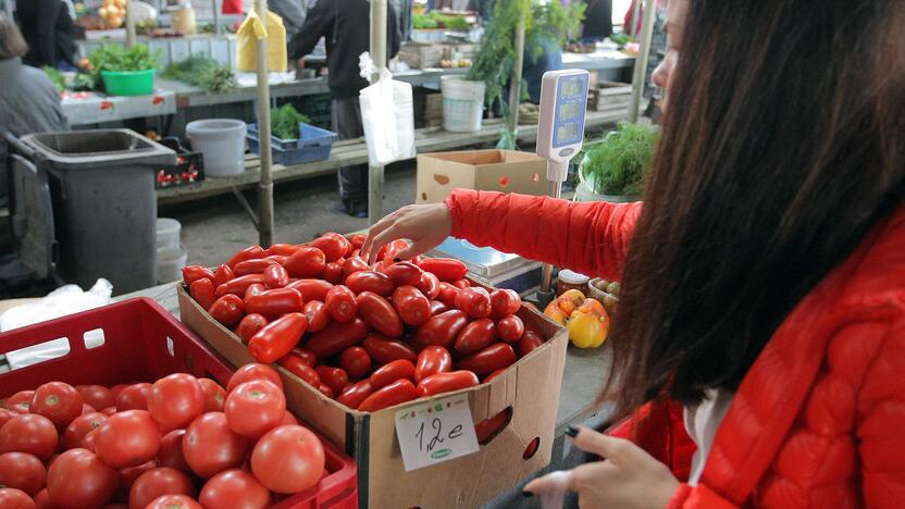
[[[82,291],[76,285],[66,285],[48,294],[38,302],[17,306],[0,315],[0,331],[24,327],[38,322],[58,319],[67,314],[80,313],[89,309],[110,303],[113,285],[107,280],[98,280],[88,291]],[[85,337],[88,348],[103,343],[103,336]],[[70,346],[65,338],[54,339],[21,350],[7,353],[10,369],[17,370],[48,359],[55,359],[69,353]]]

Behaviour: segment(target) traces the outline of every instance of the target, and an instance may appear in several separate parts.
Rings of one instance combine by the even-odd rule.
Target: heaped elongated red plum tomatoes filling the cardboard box
[[[369,265],[364,239],[251,246],[213,271],[185,268],[184,283],[259,362],[360,411],[476,386],[544,343],[516,315],[517,293],[472,286],[458,260],[399,261],[402,240]]]

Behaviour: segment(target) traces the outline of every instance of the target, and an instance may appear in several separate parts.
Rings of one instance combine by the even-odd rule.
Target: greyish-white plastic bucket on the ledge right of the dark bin
[[[189,122],[185,133],[191,149],[204,157],[204,175],[223,177],[245,171],[245,122],[233,119],[208,119]]]

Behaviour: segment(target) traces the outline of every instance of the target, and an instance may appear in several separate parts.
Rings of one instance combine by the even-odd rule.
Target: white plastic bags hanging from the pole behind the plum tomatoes
[[[374,65],[365,52],[360,58],[361,75],[367,79]],[[377,83],[361,90],[361,123],[368,142],[368,161],[383,166],[394,161],[412,159],[414,148],[414,105],[411,84],[393,79],[382,69]]]

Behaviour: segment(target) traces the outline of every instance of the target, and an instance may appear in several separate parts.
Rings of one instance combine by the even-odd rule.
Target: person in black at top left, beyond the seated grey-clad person
[[[35,67],[49,65],[76,71],[75,24],[60,0],[16,2],[16,18],[28,45],[23,61]]]

